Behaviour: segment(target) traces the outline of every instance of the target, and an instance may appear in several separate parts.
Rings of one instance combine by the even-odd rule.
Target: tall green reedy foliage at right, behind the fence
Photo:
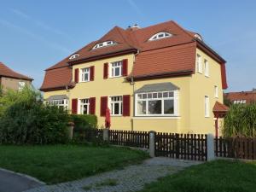
[[[223,133],[224,137],[256,137],[256,103],[231,105]]]

